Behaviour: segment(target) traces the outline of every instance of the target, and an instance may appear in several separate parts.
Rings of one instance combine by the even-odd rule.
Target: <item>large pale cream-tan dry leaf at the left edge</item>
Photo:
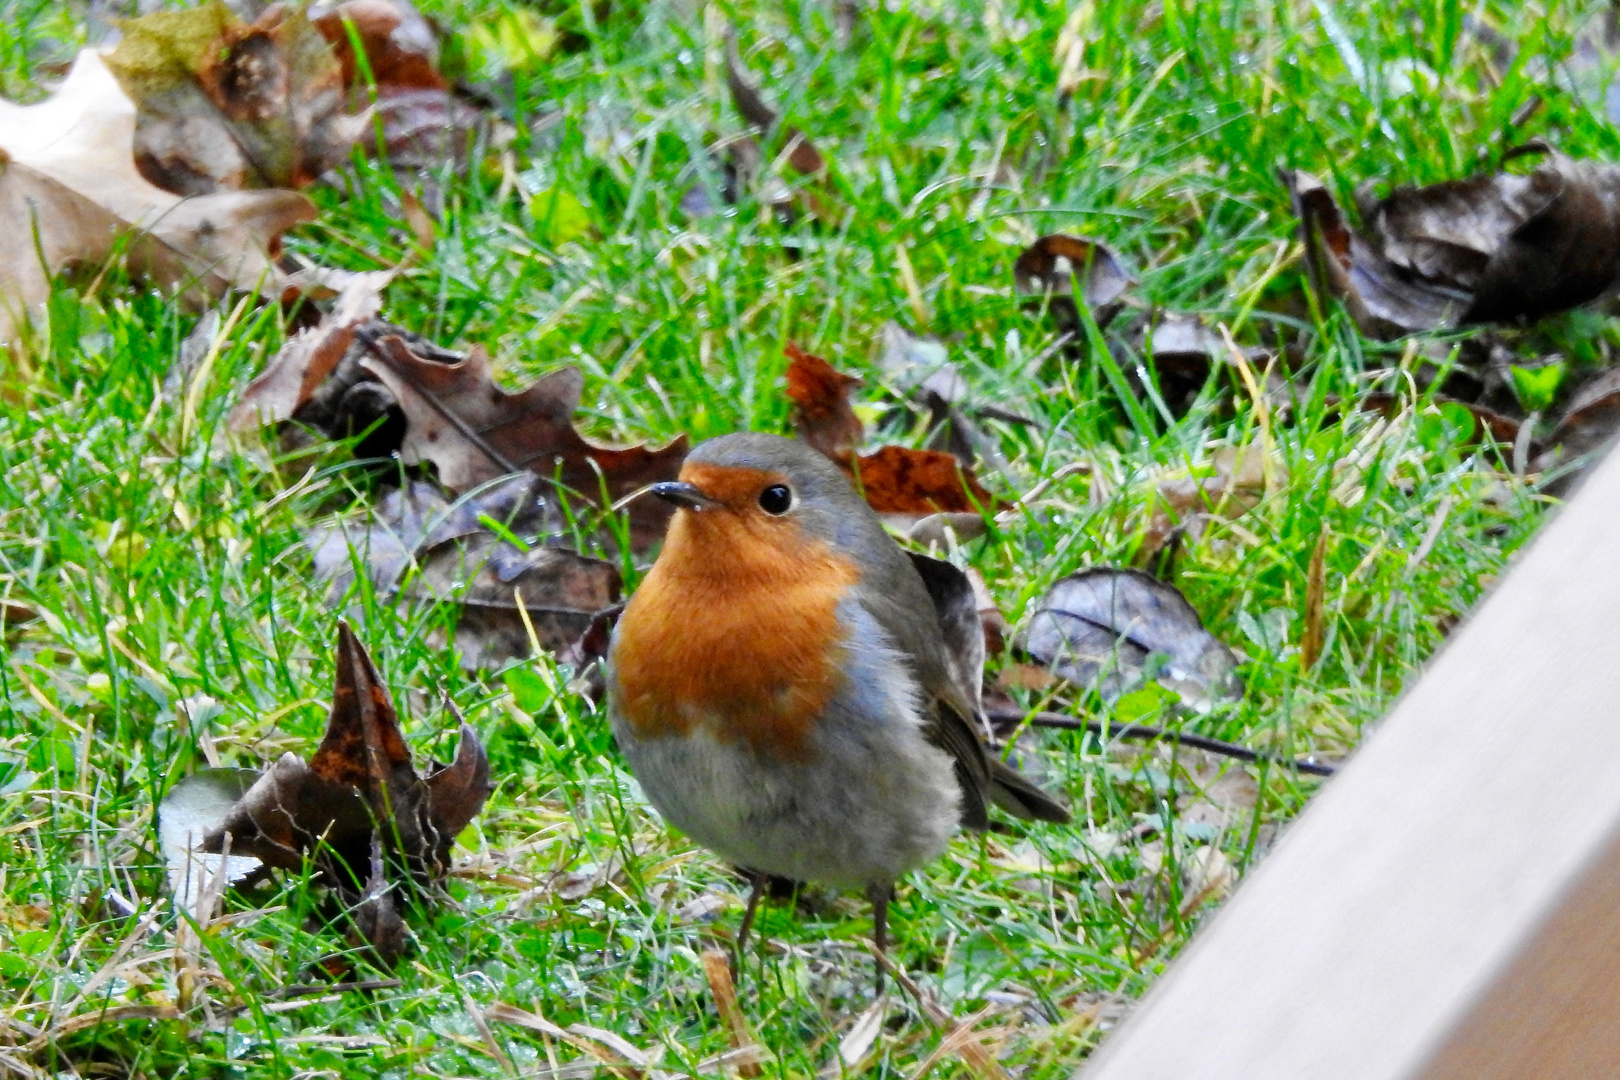
[[[280,288],[280,235],[314,219],[308,199],[180,199],[136,172],[133,142],[134,105],[94,50],[44,102],[0,102],[0,343],[50,296],[55,274],[105,262],[125,238],[131,270],[188,296]]]

